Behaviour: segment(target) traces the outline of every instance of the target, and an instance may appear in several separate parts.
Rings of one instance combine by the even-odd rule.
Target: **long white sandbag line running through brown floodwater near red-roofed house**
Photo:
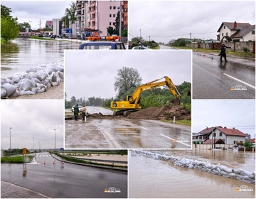
[[[142,151],[142,150],[132,150],[132,153],[141,154],[143,156],[171,161],[175,166],[181,166],[185,168],[196,168],[200,171],[205,171],[207,173],[213,173],[218,176],[223,176],[226,178],[233,178],[240,181],[245,181],[247,183],[255,184],[255,171],[249,172],[244,171],[242,169],[228,168],[227,166],[212,164],[206,161],[197,161],[191,160],[189,158],[181,158],[176,156],[166,156],[161,154],[151,153],[150,151]]]

